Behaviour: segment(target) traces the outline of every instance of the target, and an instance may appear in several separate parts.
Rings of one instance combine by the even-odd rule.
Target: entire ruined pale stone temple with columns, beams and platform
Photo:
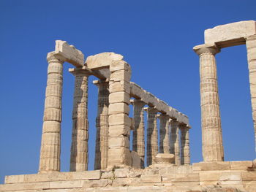
[[[122,55],[99,53],[85,59],[80,50],[57,40],[55,50],[47,55],[48,80],[39,172],[7,176],[0,191],[189,192],[217,185],[255,192],[256,161],[224,161],[219,115],[214,55],[224,47],[242,44],[246,44],[248,53],[256,131],[256,22],[242,21],[207,29],[205,43],[194,47],[200,56],[203,162],[191,165],[188,117],[131,82],[131,66]],[[75,77],[70,172],[60,172],[64,62],[74,66],[69,72]],[[94,171],[87,171],[90,75],[98,78],[93,82],[98,88]],[[129,117],[130,104],[132,118]],[[129,146],[131,131],[132,147]]]

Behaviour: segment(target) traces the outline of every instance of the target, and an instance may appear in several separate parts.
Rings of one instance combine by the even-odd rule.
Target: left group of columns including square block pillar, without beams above
[[[48,53],[48,81],[45,93],[45,112],[42,128],[42,143],[39,159],[39,172],[60,171],[61,150],[61,98],[62,73],[64,61]],[[96,119],[97,137],[95,147],[94,169],[106,169],[116,164],[129,165],[129,85],[130,67],[124,61],[113,65],[110,69],[110,80],[97,80],[98,111]],[[75,91],[72,111],[72,144],[70,150],[71,172],[88,169],[88,78],[90,72],[76,68]],[[144,105],[140,99],[133,101],[135,129],[133,131],[132,147],[141,158],[141,168],[144,167]],[[167,115],[160,115],[160,146],[158,151],[157,110],[148,107],[147,122],[147,165],[154,162],[157,153],[173,153],[176,164],[190,164],[188,128],[181,128],[177,121],[169,120]],[[178,128],[181,129],[181,152]],[[169,132],[171,138],[169,138]],[[120,145],[119,145],[120,144]],[[180,158],[181,153],[181,158]]]

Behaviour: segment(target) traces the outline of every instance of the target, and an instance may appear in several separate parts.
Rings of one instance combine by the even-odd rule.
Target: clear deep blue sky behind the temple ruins
[[[55,40],[83,53],[115,52],[132,81],[189,116],[192,162],[202,161],[199,59],[203,31],[256,20],[255,0],[0,1],[0,183],[4,175],[37,173],[47,77]],[[64,64],[61,171],[69,169],[74,77]],[[217,54],[225,161],[255,158],[244,45]],[[93,169],[97,88],[89,81],[89,169]]]

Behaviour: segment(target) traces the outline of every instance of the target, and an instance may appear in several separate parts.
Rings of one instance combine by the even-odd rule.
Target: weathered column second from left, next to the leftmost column
[[[70,154],[70,172],[88,169],[88,77],[85,69],[75,69],[75,91],[72,112],[72,144]]]

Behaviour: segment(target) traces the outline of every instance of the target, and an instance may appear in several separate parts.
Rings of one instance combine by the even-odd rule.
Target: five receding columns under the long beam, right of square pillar
[[[133,131],[132,150],[138,153],[141,159],[141,168],[144,167],[145,140],[144,140],[144,105],[140,99],[132,102],[135,128]],[[154,107],[147,107],[147,166],[154,163],[157,153],[171,153],[175,155],[175,164],[190,164],[189,127],[170,120],[170,117],[161,114]],[[157,117],[160,120],[160,138],[158,149]],[[181,136],[179,134],[181,131]]]

